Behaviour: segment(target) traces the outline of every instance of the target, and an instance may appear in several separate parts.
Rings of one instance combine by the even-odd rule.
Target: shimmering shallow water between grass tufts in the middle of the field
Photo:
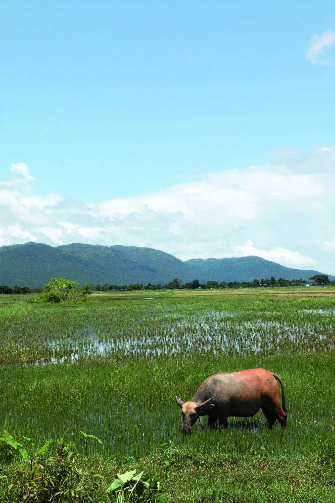
[[[231,312],[185,315],[156,313],[154,309],[148,311],[151,323],[138,318],[132,326],[114,330],[92,324],[64,339],[49,337],[45,346],[53,352],[52,362],[64,359],[73,362],[81,358],[117,354],[156,357],[200,351],[214,355],[258,355],[285,348],[301,350],[304,347],[311,351],[335,349],[334,338],[318,332],[308,318],[298,324],[275,319],[245,321],[240,313]],[[145,317],[146,313],[142,315]]]

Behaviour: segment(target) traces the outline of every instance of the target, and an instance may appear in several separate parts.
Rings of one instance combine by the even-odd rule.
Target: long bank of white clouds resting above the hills
[[[288,148],[266,165],[100,204],[34,194],[29,168],[19,164],[0,186],[0,244],[145,245],[182,260],[257,255],[329,274],[334,269],[333,146],[310,154]]]

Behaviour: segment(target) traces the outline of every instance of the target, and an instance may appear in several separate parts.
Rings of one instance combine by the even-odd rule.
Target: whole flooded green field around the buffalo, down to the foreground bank
[[[194,452],[321,453],[335,444],[334,312],[332,298],[251,296],[0,304],[0,423],[39,443],[73,433],[80,445],[76,432],[86,431],[108,455],[171,442]],[[175,394],[188,400],[211,374],[255,367],[283,379],[285,431],[270,432],[260,411],[229,418],[226,431],[210,432],[202,418],[181,435]]]

